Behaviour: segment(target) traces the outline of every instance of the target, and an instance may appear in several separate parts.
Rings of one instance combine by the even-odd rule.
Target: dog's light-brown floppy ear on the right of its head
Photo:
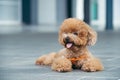
[[[87,29],[88,29],[88,42],[87,42],[87,45],[88,46],[92,46],[96,43],[97,41],[97,33],[96,31],[94,31],[90,26],[87,26]]]

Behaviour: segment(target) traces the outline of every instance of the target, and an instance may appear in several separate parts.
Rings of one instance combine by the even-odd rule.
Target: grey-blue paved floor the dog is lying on
[[[90,47],[104,64],[100,72],[59,73],[36,66],[40,55],[62,48],[57,38],[57,33],[0,34],[0,80],[120,80],[120,32],[98,32],[97,44]]]

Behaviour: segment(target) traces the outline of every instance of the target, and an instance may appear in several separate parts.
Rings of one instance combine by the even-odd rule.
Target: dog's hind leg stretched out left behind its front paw
[[[47,55],[43,55],[36,60],[37,65],[51,65],[56,53],[52,52]]]

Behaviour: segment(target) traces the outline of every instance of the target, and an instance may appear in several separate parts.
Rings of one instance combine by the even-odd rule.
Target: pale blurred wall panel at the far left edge
[[[0,0],[0,24],[21,23],[21,0]]]

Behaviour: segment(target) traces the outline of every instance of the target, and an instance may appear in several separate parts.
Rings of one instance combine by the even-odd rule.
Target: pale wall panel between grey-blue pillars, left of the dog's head
[[[56,24],[56,0],[38,0],[38,24]]]

